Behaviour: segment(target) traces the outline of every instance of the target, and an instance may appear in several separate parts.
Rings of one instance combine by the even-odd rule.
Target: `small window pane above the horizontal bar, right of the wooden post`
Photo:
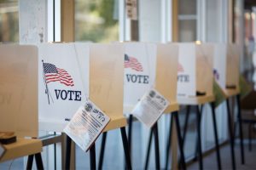
[[[178,14],[196,14],[196,0],[178,0]]]

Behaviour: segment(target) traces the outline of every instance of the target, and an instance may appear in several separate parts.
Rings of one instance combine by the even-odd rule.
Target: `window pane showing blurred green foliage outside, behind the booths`
[[[116,0],[76,0],[75,40],[112,42],[119,40]]]

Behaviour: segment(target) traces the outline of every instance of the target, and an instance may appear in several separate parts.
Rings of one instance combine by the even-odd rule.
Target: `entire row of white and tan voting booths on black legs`
[[[160,116],[171,114],[170,127],[163,132],[168,133],[164,150],[165,166],[167,168],[170,161],[171,126],[175,124],[178,156],[181,168],[186,169],[183,153],[185,132],[182,134],[180,129],[178,111],[179,105],[187,105],[188,108],[197,107],[198,156],[202,169],[200,106],[208,103],[212,106],[217,165],[220,169],[213,82],[217,82],[222,89],[225,99],[239,96],[238,49],[236,44],[194,42],[73,42],[42,43],[37,46],[1,44],[0,131],[15,132],[17,141],[0,145],[0,161],[35,156],[38,168],[44,168],[40,152],[46,144],[39,138],[38,130],[63,132],[79,107],[85,107],[84,104],[90,101],[92,107],[95,105],[102,111],[99,117],[108,116],[109,120],[93,133],[90,128],[94,125],[91,125],[93,123],[90,119],[84,119],[83,123],[73,123],[73,127],[69,128],[73,135],[67,138],[66,168],[70,167],[71,139],[76,142],[78,138],[78,145],[83,150],[84,147],[90,150],[90,168],[96,169],[98,166],[102,169],[104,153],[108,153],[108,150],[104,152],[105,143],[108,142],[107,133],[119,128],[125,167],[131,169],[131,134],[132,122],[135,120],[142,122],[150,131],[146,160],[142,160],[144,168],[148,168],[152,139],[155,168],[164,167],[160,165],[162,150],[159,149],[157,120]],[[236,168],[234,133],[228,103],[231,157],[233,168]],[[189,114],[188,109],[186,117]],[[128,132],[125,129],[127,126]],[[96,166],[95,140],[101,133],[102,148]],[[32,159],[29,161],[27,166],[31,167]]]

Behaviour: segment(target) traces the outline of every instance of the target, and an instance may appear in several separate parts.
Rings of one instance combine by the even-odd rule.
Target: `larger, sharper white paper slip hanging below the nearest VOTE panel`
[[[104,127],[107,126],[110,118],[103,113],[90,100],[85,105],[79,107],[64,132],[79,145],[79,147],[87,151],[90,145],[95,142]]]

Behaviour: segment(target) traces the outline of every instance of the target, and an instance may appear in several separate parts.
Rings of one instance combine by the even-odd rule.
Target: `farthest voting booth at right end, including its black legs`
[[[237,122],[240,138],[241,162],[245,162],[243,150],[243,134],[241,123],[241,99],[239,87],[239,46],[234,43],[216,43],[214,44],[214,70],[213,74],[216,82],[223,90],[223,98],[226,100],[226,108],[228,115],[228,125],[230,133],[230,150],[232,167],[236,168],[236,156],[234,139],[235,134],[232,130],[234,119],[231,116],[230,100],[236,98],[237,106]]]

